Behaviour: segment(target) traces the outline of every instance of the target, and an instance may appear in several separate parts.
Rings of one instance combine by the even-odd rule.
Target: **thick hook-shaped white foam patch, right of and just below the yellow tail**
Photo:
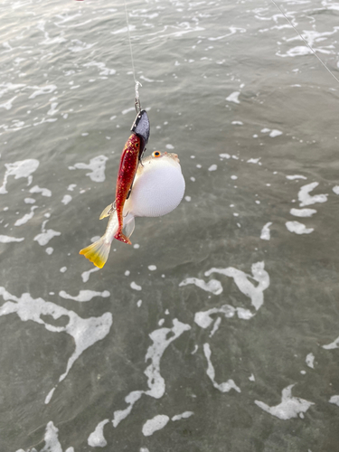
[[[233,278],[235,284],[240,289],[246,297],[250,297],[250,301],[252,306],[259,309],[259,307],[264,302],[263,292],[269,286],[269,276],[268,272],[264,269],[264,262],[257,262],[252,264],[251,270],[252,275],[247,275],[241,270],[237,268],[229,267],[229,268],[211,268],[208,271],[205,271],[205,276],[210,276],[212,273],[220,273],[221,275],[226,275],[227,277]],[[254,286],[249,278],[253,278],[258,282],[257,286]]]

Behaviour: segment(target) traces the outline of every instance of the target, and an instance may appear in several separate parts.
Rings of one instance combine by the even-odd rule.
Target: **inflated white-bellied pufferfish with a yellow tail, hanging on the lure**
[[[155,151],[137,168],[133,190],[124,205],[124,229],[129,238],[135,228],[135,217],[160,217],[172,212],[184,197],[184,176],[178,155]],[[109,215],[110,203],[101,213],[100,220]],[[89,247],[80,250],[85,258],[99,268],[107,259],[114,236],[118,231],[117,211],[109,216],[105,234]]]

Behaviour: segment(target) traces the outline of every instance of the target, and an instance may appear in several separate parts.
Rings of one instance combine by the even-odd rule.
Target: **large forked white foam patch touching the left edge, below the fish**
[[[16,313],[23,322],[32,320],[43,325],[46,330],[52,333],[64,332],[71,335],[75,350],[68,360],[66,372],[61,375],[59,381],[64,380],[82,352],[108,334],[113,323],[112,315],[109,312],[99,317],[81,318],[80,315],[71,310],[55,305],[50,301],[44,301],[42,298],[33,298],[28,293],[21,297],[15,297],[7,292],[5,287],[0,287],[0,295],[5,299],[5,304],[0,307],[0,316]],[[67,325],[55,326],[42,318],[46,315],[51,315],[53,319],[67,315],[70,320]]]

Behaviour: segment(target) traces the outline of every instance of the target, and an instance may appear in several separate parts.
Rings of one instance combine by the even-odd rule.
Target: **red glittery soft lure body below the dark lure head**
[[[131,241],[122,232],[124,218],[124,205],[127,200],[129,190],[133,184],[134,177],[137,173],[137,165],[139,161],[140,138],[136,134],[132,134],[126,142],[122,151],[120,166],[118,169],[118,178],[116,186],[116,210],[118,217],[118,231],[114,238],[131,245]]]

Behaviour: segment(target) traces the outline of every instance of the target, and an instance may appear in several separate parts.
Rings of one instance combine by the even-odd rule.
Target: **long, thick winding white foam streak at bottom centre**
[[[160,374],[161,358],[169,344],[190,329],[190,325],[183,324],[174,318],[172,328],[162,327],[149,334],[153,344],[147,349],[145,361],[151,360],[151,363],[146,367],[144,372],[147,377],[149,389],[147,391],[132,391],[127,395],[125,398],[128,404],[127,408],[125,410],[114,411],[114,419],[112,420],[114,427],[117,427],[121,420],[127,418],[134,404],[143,394],[154,397],[155,399],[163,397],[165,394],[165,380]]]

